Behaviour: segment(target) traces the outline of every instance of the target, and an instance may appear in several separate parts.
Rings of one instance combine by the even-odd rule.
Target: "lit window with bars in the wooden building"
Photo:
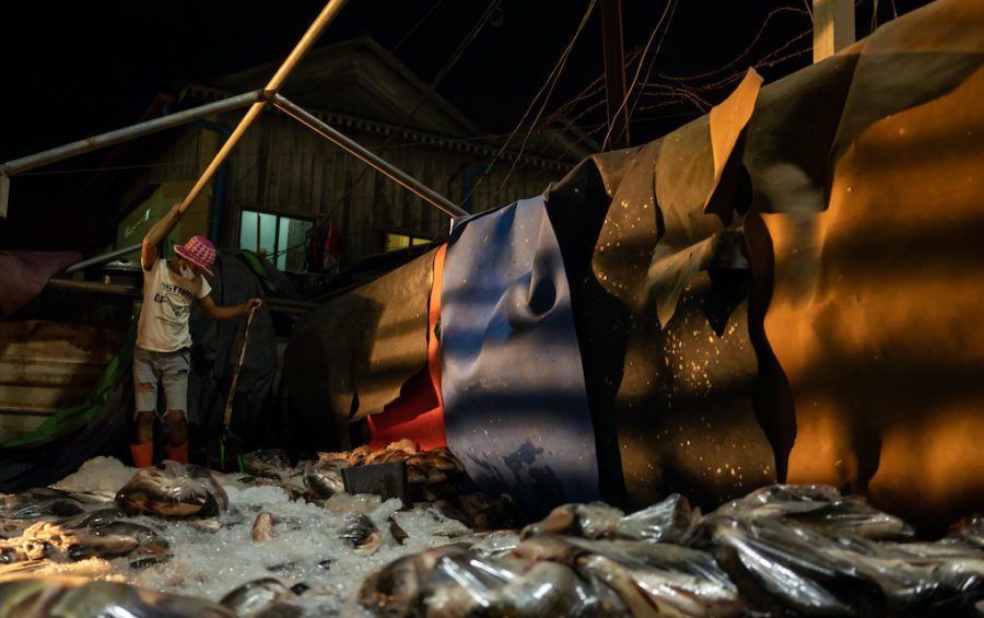
[[[265,256],[278,270],[302,272],[314,221],[243,210],[239,248]]]

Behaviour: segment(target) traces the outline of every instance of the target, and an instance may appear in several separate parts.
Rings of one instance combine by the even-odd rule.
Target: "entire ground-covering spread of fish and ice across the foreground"
[[[112,460],[62,489],[5,497],[0,616],[984,613],[984,517],[927,543],[862,498],[772,486],[706,515],[672,495],[631,514],[566,504],[522,529],[475,530],[436,500],[408,506],[336,482],[343,467],[405,457],[420,477],[445,473],[418,478],[417,498],[467,487],[442,452],[340,455],[292,467],[251,454],[245,477]]]

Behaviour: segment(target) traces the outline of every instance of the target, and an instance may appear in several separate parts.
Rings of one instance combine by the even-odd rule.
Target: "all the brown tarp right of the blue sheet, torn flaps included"
[[[609,499],[984,509],[982,57],[939,0],[551,187]]]

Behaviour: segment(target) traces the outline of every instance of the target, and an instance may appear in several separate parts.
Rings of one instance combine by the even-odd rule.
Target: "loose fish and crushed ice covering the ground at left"
[[[270,453],[246,456],[259,474],[245,477],[98,459],[112,474],[2,499],[0,616],[74,604],[133,616],[350,615],[373,569],[472,533],[425,501],[326,491],[328,468]]]

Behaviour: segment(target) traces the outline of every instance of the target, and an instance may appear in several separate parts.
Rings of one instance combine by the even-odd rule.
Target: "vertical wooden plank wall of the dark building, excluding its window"
[[[234,126],[236,119],[229,116],[223,121]],[[370,129],[368,126],[340,128],[456,203],[464,202],[465,170],[490,160],[488,154],[401,137],[387,143],[386,136]],[[151,184],[197,178],[199,139],[200,129],[175,130],[173,140],[161,151],[160,164],[139,172],[128,185],[122,206],[132,206]],[[417,233],[430,238],[447,234],[448,218],[444,213],[281,114],[265,113],[243,136],[227,164],[220,233],[224,247],[238,246],[241,210],[333,220],[345,264],[384,250],[386,231]],[[509,160],[501,160],[473,185],[472,211],[540,195],[550,182],[564,175],[564,170],[525,163],[512,171],[511,167]]]

